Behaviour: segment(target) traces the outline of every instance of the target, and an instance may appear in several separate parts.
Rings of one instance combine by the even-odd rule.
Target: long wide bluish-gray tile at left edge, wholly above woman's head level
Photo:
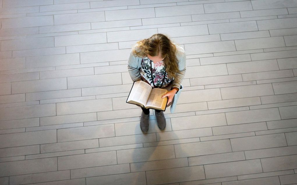
[[[29,13],[29,12],[28,12]],[[54,25],[53,15],[37,16],[37,17],[18,17],[2,20],[2,29],[9,28],[28,28],[36,26]]]

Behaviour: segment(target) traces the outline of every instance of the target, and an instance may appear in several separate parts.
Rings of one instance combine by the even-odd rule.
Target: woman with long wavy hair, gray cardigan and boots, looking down
[[[172,43],[163,34],[154,34],[133,46],[129,59],[128,71],[132,81],[145,81],[153,88],[165,88],[169,92],[162,98],[168,97],[167,107],[170,112],[176,107],[181,82],[186,73],[186,54],[182,47]],[[143,132],[149,130],[149,109],[142,108],[140,128]],[[158,127],[163,130],[166,120],[162,111],[155,110]]]

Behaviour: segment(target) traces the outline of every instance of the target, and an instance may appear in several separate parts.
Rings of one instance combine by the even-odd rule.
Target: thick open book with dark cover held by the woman
[[[167,92],[166,89],[152,88],[144,81],[136,81],[133,83],[126,102],[140,105],[147,109],[150,108],[165,111],[168,97],[161,97]]]

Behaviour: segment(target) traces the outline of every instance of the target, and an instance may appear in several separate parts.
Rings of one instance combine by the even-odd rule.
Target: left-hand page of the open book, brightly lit
[[[151,86],[144,81],[135,82],[127,99],[127,102],[138,102],[142,105],[146,105],[151,89]]]

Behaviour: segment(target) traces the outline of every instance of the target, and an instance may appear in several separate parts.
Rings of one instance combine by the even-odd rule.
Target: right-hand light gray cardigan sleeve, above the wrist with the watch
[[[176,76],[173,79],[172,87],[177,87],[178,89],[180,89],[181,82],[183,81],[184,76],[186,74],[186,53],[182,47],[180,46],[177,46],[177,47],[180,48],[177,56],[179,71],[176,73]]]

